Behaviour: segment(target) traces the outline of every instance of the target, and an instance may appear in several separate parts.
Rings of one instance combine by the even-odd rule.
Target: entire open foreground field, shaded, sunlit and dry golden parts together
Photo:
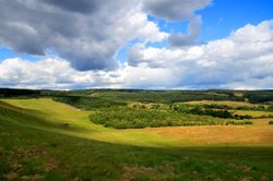
[[[268,121],[115,130],[90,113],[49,98],[2,99],[0,180],[273,179]]]

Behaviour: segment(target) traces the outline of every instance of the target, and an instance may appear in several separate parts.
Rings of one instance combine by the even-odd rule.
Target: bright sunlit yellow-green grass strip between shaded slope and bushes
[[[90,111],[80,111],[71,106],[56,102],[51,99],[5,99],[8,104],[34,110],[51,125],[31,124],[29,126],[56,132],[66,135],[72,135],[82,138],[96,140],[103,142],[128,144],[138,146],[165,147],[175,146],[177,141],[159,136],[154,133],[141,133],[139,131],[118,131],[106,129],[103,125],[91,123],[88,120]],[[69,128],[63,124],[69,124]],[[182,144],[179,143],[179,145]]]

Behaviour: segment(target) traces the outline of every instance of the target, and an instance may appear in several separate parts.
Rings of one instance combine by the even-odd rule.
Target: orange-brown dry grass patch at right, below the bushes
[[[194,145],[271,145],[273,146],[273,128],[265,120],[257,125],[205,125],[205,126],[168,126],[143,129],[162,136],[183,140]]]

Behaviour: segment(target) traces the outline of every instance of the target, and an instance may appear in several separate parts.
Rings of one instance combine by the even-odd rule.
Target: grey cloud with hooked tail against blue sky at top
[[[188,34],[173,33],[168,40],[174,47],[183,47],[194,44],[198,38],[202,19],[195,15],[197,10],[210,4],[211,0],[150,0],[145,1],[143,9],[167,21],[189,21]]]

